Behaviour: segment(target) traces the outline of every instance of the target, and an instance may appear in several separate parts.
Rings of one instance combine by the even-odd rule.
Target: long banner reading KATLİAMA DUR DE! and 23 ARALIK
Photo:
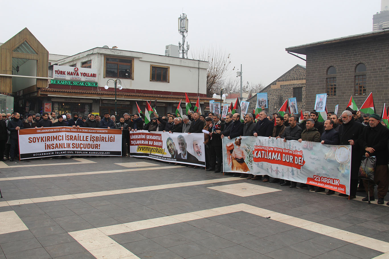
[[[224,172],[274,178],[350,193],[351,146],[284,142],[282,138],[223,138]]]

